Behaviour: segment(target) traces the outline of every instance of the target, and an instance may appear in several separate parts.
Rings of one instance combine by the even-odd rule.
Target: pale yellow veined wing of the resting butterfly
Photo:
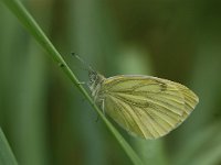
[[[157,139],[177,128],[194,109],[198,97],[187,87],[150,76],[115,76],[101,88],[105,112],[144,139]]]

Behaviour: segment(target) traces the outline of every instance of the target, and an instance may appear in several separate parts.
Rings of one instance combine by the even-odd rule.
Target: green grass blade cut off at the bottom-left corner
[[[18,165],[17,160],[9,146],[9,143],[0,128],[0,164],[1,165]]]

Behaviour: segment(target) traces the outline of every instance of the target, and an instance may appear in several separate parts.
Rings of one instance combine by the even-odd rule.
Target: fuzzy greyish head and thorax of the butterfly
[[[105,80],[105,77],[94,70],[88,73],[90,81],[87,82],[88,88],[92,92],[92,97],[95,101],[98,101],[98,92],[101,90],[102,84]]]

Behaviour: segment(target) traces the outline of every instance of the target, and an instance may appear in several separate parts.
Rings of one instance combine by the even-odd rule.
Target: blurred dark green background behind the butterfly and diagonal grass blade
[[[147,165],[221,164],[221,2],[23,0],[82,81],[74,52],[106,77],[144,74],[191,88],[200,103],[156,141],[117,129]],[[21,165],[129,165],[118,142],[0,3],[0,125]]]

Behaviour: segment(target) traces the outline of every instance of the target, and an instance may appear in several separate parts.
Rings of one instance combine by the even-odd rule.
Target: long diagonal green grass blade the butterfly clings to
[[[94,103],[90,95],[83,88],[81,84],[78,84],[78,79],[72,73],[67,64],[64,62],[60,53],[50,42],[50,40],[45,36],[41,28],[34,21],[34,19],[30,15],[30,13],[25,10],[22,3],[18,0],[2,0],[4,4],[14,13],[14,15],[19,19],[19,21],[27,28],[27,30],[34,36],[38,43],[44,47],[44,50],[51,55],[54,62],[60,66],[60,68],[65,73],[65,75],[72,80],[72,82],[78,88],[78,90],[84,95],[84,97],[92,105],[94,110],[99,114],[102,120],[105,122],[107,128],[117,139],[118,143],[122,145],[124,151],[127,153],[131,162],[136,165],[141,165],[140,158],[137,156],[131,146],[124,140],[124,138],[118,133],[118,131],[112,125],[112,123],[104,117],[97,106]]]

